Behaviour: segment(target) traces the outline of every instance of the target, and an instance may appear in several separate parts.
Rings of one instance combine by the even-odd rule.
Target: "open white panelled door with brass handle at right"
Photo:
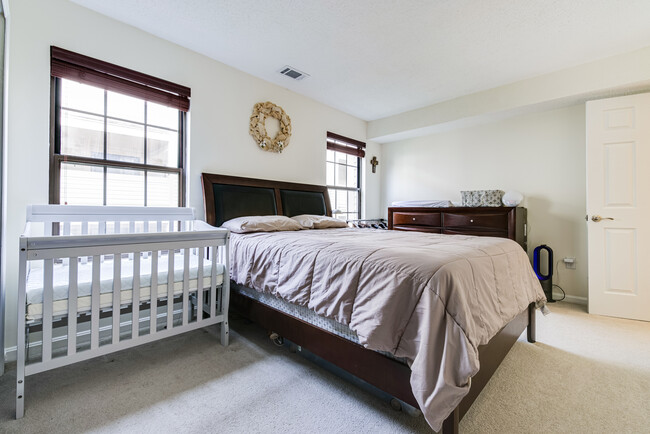
[[[589,312],[650,321],[650,94],[587,103]]]

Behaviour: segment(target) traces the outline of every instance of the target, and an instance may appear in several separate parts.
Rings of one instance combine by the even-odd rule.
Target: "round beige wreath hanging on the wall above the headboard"
[[[273,138],[266,132],[266,118],[269,116],[280,121],[280,131]],[[282,107],[272,102],[258,102],[253,107],[249,131],[260,148],[265,151],[282,152],[289,146],[291,118]]]

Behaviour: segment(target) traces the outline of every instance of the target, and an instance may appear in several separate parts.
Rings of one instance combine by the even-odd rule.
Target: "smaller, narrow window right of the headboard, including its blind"
[[[366,144],[327,133],[327,187],[332,215],[341,220],[361,218],[361,159]]]

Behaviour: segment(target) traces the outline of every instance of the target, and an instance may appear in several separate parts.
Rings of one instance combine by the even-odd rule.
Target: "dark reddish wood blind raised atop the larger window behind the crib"
[[[190,109],[189,87],[59,47],[50,47],[50,54],[53,77],[90,84],[185,112]]]

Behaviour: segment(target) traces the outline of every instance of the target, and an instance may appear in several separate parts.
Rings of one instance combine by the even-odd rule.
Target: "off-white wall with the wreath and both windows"
[[[199,216],[201,172],[324,184],[326,132],[366,138],[360,119],[68,1],[11,0],[8,16],[7,347],[16,341],[18,237],[25,206],[48,201],[50,45],[191,87],[188,202]],[[253,105],[267,100],[292,120],[291,143],[282,154],[261,151],[248,134]],[[370,143],[370,156],[378,148]],[[366,177],[368,216],[380,212],[378,180]]]

